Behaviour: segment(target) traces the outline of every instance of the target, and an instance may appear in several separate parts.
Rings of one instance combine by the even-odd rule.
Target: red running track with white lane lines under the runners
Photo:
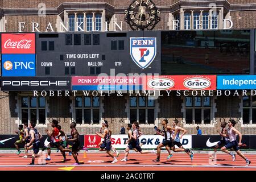
[[[79,154],[79,160],[84,162],[80,166],[73,166],[75,160],[72,156],[67,156],[68,162],[61,162],[63,156],[61,154],[52,154],[51,160],[44,163],[46,155],[41,158],[36,158],[35,166],[28,166],[31,162],[31,156],[27,159],[22,158],[23,154],[0,154],[0,171],[95,171],[95,170],[113,170],[113,171],[256,171],[256,155],[246,155],[251,160],[249,167],[245,167],[245,160],[237,156],[235,162],[226,154],[218,154],[217,160],[212,162],[208,159],[208,154],[195,154],[193,162],[187,154],[174,153],[170,160],[167,160],[167,154],[161,155],[161,161],[158,163],[152,162],[156,158],[155,154],[129,154],[127,162],[121,162],[124,154],[118,157],[118,163],[112,164],[112,158],[104,152],[93,153],[87,152],[84,155]],[[84,158],[85,157],[85,158]]]

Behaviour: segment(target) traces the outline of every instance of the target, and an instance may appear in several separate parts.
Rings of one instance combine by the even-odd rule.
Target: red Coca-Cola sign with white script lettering
[[[35,53],[35,34],[2,34],[2,53]]]

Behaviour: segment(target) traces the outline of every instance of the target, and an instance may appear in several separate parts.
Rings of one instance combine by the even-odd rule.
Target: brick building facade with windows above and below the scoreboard
[[[161,21],[156,24],[154,30],[194,30],[196,29],[195,19],[202,20],[203,29],[223,29],[224,19],[232,20],[234,29],[256,28],[256,1],[179,1],[179,0],[155,0],[155,5],[160,9]],[[53,1],[0,1],[0,32],[32,32],[32,31],[55,31],[65,32],[61,26],[67,25],[68,31],[81,31],[77,27],[79,23],[84,31],[92,31],[94,28],[99,31],[114,31],[122,26],[122,31],[130,31],[129,25],[125,22],[125,9],[131,1],[121,0],[53,0]],[[174,20],[179,20],[179,25],[174,27]],[[186,23],[186,20],[188,23]],[[105,22],[109,26],[105,27]],[[21,24],[20,24],[21,23]],[[52,26],[49,27],[49,23]],[[228,22],[228,26],[229,26]],[[33,29],[34,27],[34,29]],[[117,28],[117,31],[118,30]],[[230,30],[229,30],[230,31]],[[80,100],[81,99],[81,100]],[[200,107],[186,106],[187,100],[201,102]],[[197,101],[196,101],[197,100]],[[23,106],[26,101],[27,105]],[[90,102],[90,108],[76,105],[81,102]],[[205,102],[209,102],[204,105]],[[246,107],[243,102],[250,102]],[[40,102],[43,102],[42,107]],[[95,103],[94,103],[95,102]],[[131,106],[136,102],[136,106]],[[121,124],[130,122],[132,113],[139,120],[139,112],[145,112],[146,121],[141,123],[144,134],[153,134],[153,126],[160,125],[162,119],[172,121],[177,118],[181,126],[188,130],[189,134],[196,134],[196,126],[200,126],[203,134],[216,134],[216,128],[220,127],[220,121],[228,121],[235,118],[238,122],[238,130],[243,134],[255,134],[256,122],[253,121],[254,97],[243,98],[242,96],[221,96],[221,97],[177,97],[172,94],[170,97],[159,97],[150,104],[148,98],[144,98],[144,106],[139,106],[139,97],[105,96],[105,97],[46,97],[44,99],[32,98],[32,92],[0,92],[0,134],[13,134],[19,123],[23,120],[31,120],[35,117],[38,128],[42,133],[49,127],[49,118],[57,118],[65,131],[69,130],[69,123],[76,121],[76,115],[81,114],[78,129],[81,134],[93,134],[100,130],[99,122],[86,123],[85,115],[90,112],[92,120],[106,119],[110,123],[110,129],[114,134],[119,133]],[[95,104],[95,106],[94,106]],[[35,106],[32,106],[35,105]],[[191,109],[192,121],[186,121],[187,112]],[[199,119],[196,122],[196,110],[209,110],[209,118]],[[243,122],[244,109],[249,111],[249,122]],[[144,111],[143,111],[144,110]],[[24,113],[27,112],[27,118]],[[45,114],[40,114],[41,112]],[[80,113],[81,112],[81,113]],[[35,116],[32,116],[34,113]],[[44,121],[42,122],[42,118]],[[97,117],[94,117],[97,115]],[[154,115],[154,119],[151,116]],[[90,120],[90,119],[89,119]]]

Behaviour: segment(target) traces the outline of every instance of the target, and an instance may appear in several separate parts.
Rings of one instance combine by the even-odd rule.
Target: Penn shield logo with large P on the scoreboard
[[[140,68],[147,68],[156,56],[156,38],[130,38],[130,55]]]

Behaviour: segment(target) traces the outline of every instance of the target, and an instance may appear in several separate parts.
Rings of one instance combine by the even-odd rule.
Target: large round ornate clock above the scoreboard
[[[132,30],[153,30],[160,21],[160,10],[151,0],[134,0],[125,14],[125,21]]]

